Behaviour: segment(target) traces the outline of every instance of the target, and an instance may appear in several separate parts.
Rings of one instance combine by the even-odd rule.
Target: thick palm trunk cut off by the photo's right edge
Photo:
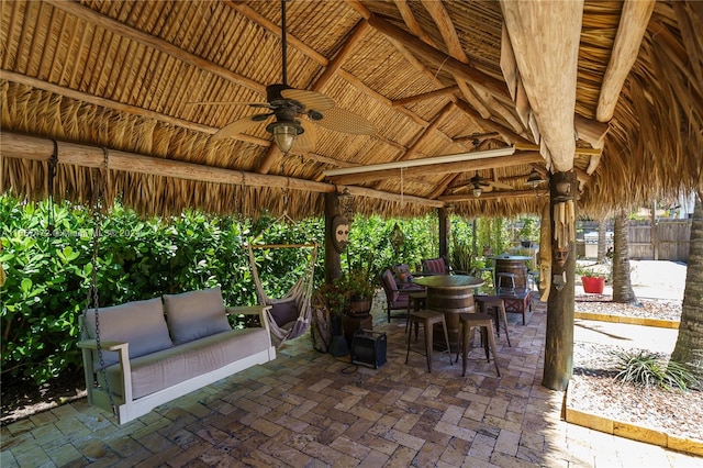
[[[702,193],[698,193],[691,236],[689,264],[683,290],[679,337],[671,360],[685,365],[703,387],[703,209]]]

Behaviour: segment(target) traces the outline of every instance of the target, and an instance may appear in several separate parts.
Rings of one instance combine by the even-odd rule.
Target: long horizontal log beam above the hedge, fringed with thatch
[[[103,148],[77,143],[57,142],[58,164],[80,167],[102,168]],[[0,138],[0,156],[14,159],[49,161],[54,153],[54,142],[49,138],[3,132]],[[110,149],[108,168],[134,174],[171,177],[175,179],[200,182],[226,183],[247,187],[274,187],[291,190],[304,190],[316,193],[333,193],[337,187],[332,183],[315,182],[293,177],[271,176],[266,174],[245,172],[242,170],[222,169],[212,166],[183,163],[144,156],[135,153]],[[403,196],[360,187],[349,187],[356,196],[391,200],[395,202],[417,203],[428,207],[443,207],[443,202],[422,197]]]

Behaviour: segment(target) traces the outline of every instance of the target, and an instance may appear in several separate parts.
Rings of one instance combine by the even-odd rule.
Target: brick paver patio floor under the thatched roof
[[[567,424],[542,387],[546,311],[511,315],[501,378],[472,349],[469,369],[435,353],[405,365],[404,323],[383,323],[388,363],[352,366],[304,336],[279,357],[124,426],[86,401],[2,428],[0,465],[168,467],[700,467],[703,459]]]

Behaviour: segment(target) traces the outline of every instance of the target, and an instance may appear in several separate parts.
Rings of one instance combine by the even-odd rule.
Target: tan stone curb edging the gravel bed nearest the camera
[[[568,399],[567,399],[568,400]],[[606,434],[658,445],[671,450],[703,456],[703,441],[676,437],[661,431],[638,426],[623,421],[611,420],[583,411],[566,408],[566,422],[589,427]]]

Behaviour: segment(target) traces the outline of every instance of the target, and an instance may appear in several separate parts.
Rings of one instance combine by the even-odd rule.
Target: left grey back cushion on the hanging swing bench
[[[130,343],[130,358],[152,354],[174,345],[164,321],[161,298],[127,302],[98,310],[101,342]],[[88,337],[96,338],[96,310],[86,311]],[[93,367],[100,369],[98,353],[93,353]],[[118,353],[103,352],[107,366],[118,361]]]

